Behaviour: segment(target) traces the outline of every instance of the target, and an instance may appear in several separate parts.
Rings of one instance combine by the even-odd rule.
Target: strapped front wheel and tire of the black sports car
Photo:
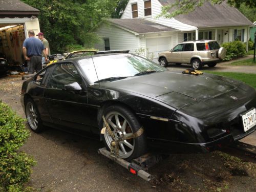
[[[103,112],[106,121],[111,127],[112,133],[116,139],[120,139],[121,136],[132,135],[137,132],[141,125],[135,115],[127,108],[120,105],[112,105],[106,108]],[[105,127],[105,123],[101,118],[101,127]],[[103,142],[110,151],[112,137],[105,131],[103,136]],[[139,156],[142,156],[146,152],[146,136],[145,131],[139,137],[124,140],[119,142],[119,157],[130,161]]]

